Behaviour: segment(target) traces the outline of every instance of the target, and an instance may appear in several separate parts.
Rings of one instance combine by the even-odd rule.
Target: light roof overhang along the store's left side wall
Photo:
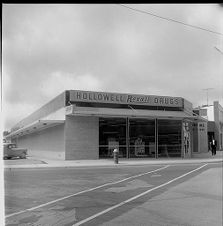
[[[24,126],[16,131],[11,132],[5,138],[21,137],[31,133],[63,124],[65,120],[38,120],[30,125]]]

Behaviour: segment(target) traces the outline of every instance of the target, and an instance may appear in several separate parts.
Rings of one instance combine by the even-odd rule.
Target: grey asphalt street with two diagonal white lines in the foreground
[[[189,225],[187,224],[188,221],[183,222],[183,219],[185,219],[184,214],[179,213],[180,218],[173,221],[174,219],[170,217],[157,217],[159,215],[157,215],[157,211],[159,209],[164,211],[162,207],[169,202],[169,196],[171,196],[171,199],[179,198],[179,192],[174,192],[171,189],[179,188],[182,184],[187,183],[184,187],[188,187],[190,191],[195,183],[190,182],[193,178],[209,172],[209,170],[216,169],[221,172],[222,163],[6,170],[6,225],[192,226],[193,222],[196,222],[194,225],[199,225],[198,222],[201,216],[193,215],[192,219],[194,221],[189,221],[191,223]],[[207,179],[203,180],[203,186],[198,190],[201,192],[209,190],[209,183],[212,183],[213,187],[215,187],[213,183],[218,186],[219,178],[220,176],[217,178],[208,176]],[[214,179],[214,182],[210,179]],[[198,177],[196,181],[198,180],[201,179]],[[191,183],[191,185],[188,185],[188,183]],[[181,187],[181,190],[184,187]],[[199,191],[193,193],[194,200],[196,195],[200,197]],[[193,191],[191,190],[191,192]],[[151,200],[164,194],[166,197],[162,202],[154,205],[156,213],[153,212],[154,210],[150,206],[149,211],[139,217],[142,215],[139,208],[143,205],[148,207]],[[210,199],[217,200],[212,204],[217,206],[217,213],[214,216],[218,218],[219,213],[222,211],[222,202],[218,201],[218,199],[222,200],[221,195],[217,193],[212,196],[210,194],[205,196],[203,193],[202,203],[199,201],[201,204],[199,208],[202,209],[203,206],[210,205]],[[184,209],[185,199],[179,198],[176,205]],[[166,208],[163,215],[168,215],[167,212],[174,210],[174,208],[176,212],[177,206],[172,207],[172,209],[169,208],[169,210]],[[184,211],[191,207],[188,204],[185,208]],[[150,218],[148,218],[149,214],[151,215]],[[199,214],[202,215],[202,211]],[[129,222],[131,216],[134,216],[134,218]],[[188,218],[188,215],[186,218]],[[116,219],[117,221],[115,221]],[[134,222],[134,219],[138,220]],[[188,219],[190,219],[190,216]],[[213,222],[213,219],[211,220]],[[219,219],[216,224],[212,225],[218,225],[221,222],[222,220]]]

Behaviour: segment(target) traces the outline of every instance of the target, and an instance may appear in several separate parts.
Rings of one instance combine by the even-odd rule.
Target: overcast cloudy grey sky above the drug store
[[[128,5],[223,33],[223,7]],[[3,5],[4,129],[66,89],[223,105],[223,36],[120,5]]]

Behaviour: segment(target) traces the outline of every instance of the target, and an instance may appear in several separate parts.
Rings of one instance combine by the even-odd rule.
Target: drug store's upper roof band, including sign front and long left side
[[[124,107],[131,108],[132,106],[133,108],[143,108],[145,110],[150,109],[151,111],[154,109],[166,111],[177,110],[187,111],[192,115],[192,104],[182,97],[65,90],[37,111],[18,122],[12,127],[11,132],[20,131],[20,129],[27,127],[38,120],[42,120],[47,115],[52,114],[60,108],[65,108],[70,104],[87,105],[89,107],[92,105],[93,108],[103,107],[106,105],[110,109],[113,109],[114,106],[119,109]]]

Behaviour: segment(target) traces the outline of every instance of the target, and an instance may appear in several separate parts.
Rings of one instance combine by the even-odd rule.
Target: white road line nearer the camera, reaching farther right
[[[88,221],[90,221],[90,220],[92,220],[92,219],[94,219],[94,218],[96,218],[96,217],[99,217],[99,216],[101,216],[101,215],[103,215],[103,214],[105,214],[105,213],[107,213],[107,212],[109,212],[109,211],[111,211],[111,210],[114,210],[114,209],[116,209],[116,208],[118,208],[118,207],[120,207],[120,206],[123,206],[123,205],[126,204],[126,203],[129,203],[129,202],[131,202],[131,201],[133,201],[133,200],[135,200],[135,199],[137,199],[137,198],[140,198],[141,196],[146,195],[146,194],[148,194],[148,193],[151,192],[151,191],[154,191],[154,190],[156,190],[156,189],[159,189],[159,188],[161,188],[161,187],[164,187],[164,186],[166,186],[166,185],[168,185],[168,184],[170,184],[170,183],[172,183],[172,182],[174,182],[174,181],[176,181],[176,180],[178,180],[178,179],[180,179],[180,178],[182,178],[182,177],[185,177],[185,176],[187,176],[187,175],[189,175],[189,174],[191,174],[191,173],[193,173],[193,172],[195,172],[195,171],[197,171],[197,170],[199,170],[199,169],[205,167],[206,165],[208,165],[208,163],[205,164],[205,165],[202,165],[202,166],[200,166],[200,167],[198,167],[198,168],[196,168],[196,169],[194,169],[194,170],[192,170],[192,171],[190,171],[190,172],[188,172],[188,173],[185,173],[185,174],[183,174],[183,175],[181,175],[181,176],[179,176],[179,177],[176,177],[176,178],[174,178],[173,180],[170,180],[170,181],[168,181],[168,182],[166,182],[166,183],[164,183],[164,184],[161,184],[161,185],[159,185],[159,186],[157,186],[157,187],[151,188],[151,189],[149,189],[149,190],[147,190],[147,191],[145,191],[145,192],[143,192],[143,193],[141,193],[141,194],[139,194],[139,195],[136,195],[136,196],[134,196],[134,197],[132,197],[132,198],[130,198],[130,199],[127,199],[127,200],[125,200],[125,201],[123,201],[123,202],[120,202],[119,204],[114,205],[114,206],[112,206],[112,207],[110,207],[110,208],[108,208],[108,209],[105,209],[105,210],[103,210],[103,211],[101,211],[101,212],[99,212],[99,213],[97,213],[97,214],[95,214],[95,215],[92,215],[92,216],[90,216],[90,217],[88,217],[88,218],[86,218],[86,219],[84,219],[84,220],[82,220],[82,221],[79,221],[79,222],[77,222],[76,224],[73,224],[72,226],[79,226],[79,225],[82,225],[82,224],[84,224],[84,223],[86,223],[86,222],[88,222]]]

